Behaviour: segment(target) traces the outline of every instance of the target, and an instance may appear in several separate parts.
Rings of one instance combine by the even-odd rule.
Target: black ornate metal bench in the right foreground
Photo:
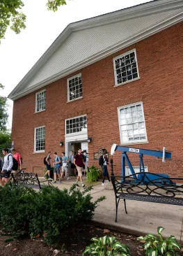
[[[136,179],[134,175],[123,177],[115,176],[112,173],[111,182],[116,197],[116,222],[120,199],[124,200],[125,213],[127,213],[126,200],[183,206],[183,178],[165,178],[159,174],[148,172],[141,174],[136,173],[136,177],[138,177]],[[154,179],[150,180],[152,175],[154,175]]]

